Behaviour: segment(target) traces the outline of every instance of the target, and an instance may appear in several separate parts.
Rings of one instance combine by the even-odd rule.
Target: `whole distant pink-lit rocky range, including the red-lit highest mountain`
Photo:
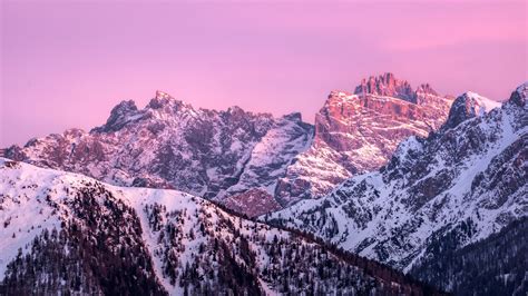
[[[354,95],[331,92],[314,128],[300,114],[195,109],[157,91],[144,109],[120,102],[89,132],[70,129],[0,156],[119,186],[175,188],[255,217],[378,169],[399,141],[440,127],[451,101],[385,73]]]

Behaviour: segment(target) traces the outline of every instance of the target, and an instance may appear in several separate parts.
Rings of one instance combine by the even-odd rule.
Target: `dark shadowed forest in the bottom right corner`
[[[454,295],[528,294],[528,218],[515,220],[501,231],[456,249],[443,238],[431,245],[431,257],[411,274]]]

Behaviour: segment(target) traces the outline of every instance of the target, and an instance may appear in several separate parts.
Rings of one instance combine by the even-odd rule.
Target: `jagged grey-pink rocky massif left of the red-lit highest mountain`
[[[278,177],[312,136],[313,127],[300,114],[273,118],[238,107],[195,109],[157,91],[140,110],[131,100],[120,102],[90,132],[70,129],[3,155],[114,185],[176,188],[208,199],[258,189],[268,199],[264,203],[274,205]],[[276,208],[264,213],[271,209]]]

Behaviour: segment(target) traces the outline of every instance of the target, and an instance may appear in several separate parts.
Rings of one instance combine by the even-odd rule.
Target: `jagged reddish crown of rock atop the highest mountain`
[[[369,79],[361,80],[361,85],[355,87],[355,95],[384,96],[400,98],[407,101],[415,102],[415,95],[411,85],[407,80],[399,80],[393,73],[387,72],[378,77],[371,76]]]

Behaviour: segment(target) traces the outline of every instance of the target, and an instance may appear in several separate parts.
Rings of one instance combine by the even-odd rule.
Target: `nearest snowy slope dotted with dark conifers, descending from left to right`
[[[401,273],[176,190],[0,158],[2,295],[424,295]]]

